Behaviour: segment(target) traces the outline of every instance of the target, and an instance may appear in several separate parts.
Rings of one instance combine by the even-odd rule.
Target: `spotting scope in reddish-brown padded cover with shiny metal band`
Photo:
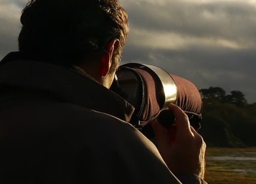
[[[202,119],[202,99],[195,84],[169,74],[155,65],[128,63],[119,66],[110,87],[114,93],[134,106],[129,123],[146,137],[154,137],[150,122],[155,119],[169,128],[174,116],[168,104],[179,106],[189,117],[190,125],[198,131]]]

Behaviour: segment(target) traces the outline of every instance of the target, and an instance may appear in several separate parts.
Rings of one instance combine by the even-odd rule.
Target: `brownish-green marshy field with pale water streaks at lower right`
[[[205,180],[209,184],[255,184],[256,147],[207,148]]]

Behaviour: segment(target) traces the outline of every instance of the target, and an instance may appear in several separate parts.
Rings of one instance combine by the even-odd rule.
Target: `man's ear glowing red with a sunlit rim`
[[[120,41],[118,39],[112,40],[107,45],[105,52],[101,56],[101,68],[100,68],[100,75],[106,76],[109,73],[109,69],[112,65],[112,57],[113,53],[118,49]]]

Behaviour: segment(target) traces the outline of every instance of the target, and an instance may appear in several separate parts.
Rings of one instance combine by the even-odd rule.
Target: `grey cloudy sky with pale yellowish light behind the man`
[[[0,59],[17,50],[27,0],[0,0]],[[120,0],[129,15],[122,63],[156,65],[199,89],[256,102],[256,0]]]

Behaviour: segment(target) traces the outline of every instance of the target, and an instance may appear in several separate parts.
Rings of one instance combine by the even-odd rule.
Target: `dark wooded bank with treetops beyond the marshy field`
[[[208,147],[255,147],[256,103],[241,91],[226,94],[220,87],[199,90],[203,99],[199,133]]]

